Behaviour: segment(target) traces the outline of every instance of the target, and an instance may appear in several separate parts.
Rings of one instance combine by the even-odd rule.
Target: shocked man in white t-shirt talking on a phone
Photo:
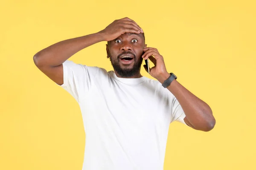
[[[114,71],[67,60],[101,41],[108,41]],[[83,170],[163,169],[171,122],[203,131],[215,125],[210,107],[167,72],[163,56],[145,45],[143,30],[127,17],[53,44],[33,59],[79,102],[86,133]],[[140,74],[143,59],[153,62],[150,75],[158,81]]]

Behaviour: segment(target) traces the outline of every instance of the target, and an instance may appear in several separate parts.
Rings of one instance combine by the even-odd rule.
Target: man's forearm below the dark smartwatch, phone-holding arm
[[[163,83],[169,76],[170,74],[165,74],[159,81]],[[193,128],[209,131],[214,127],[215,118],[207,103],[192,94],[176,80],[167,89],[176,97],[183,108],[187,121],[189,121]]]

